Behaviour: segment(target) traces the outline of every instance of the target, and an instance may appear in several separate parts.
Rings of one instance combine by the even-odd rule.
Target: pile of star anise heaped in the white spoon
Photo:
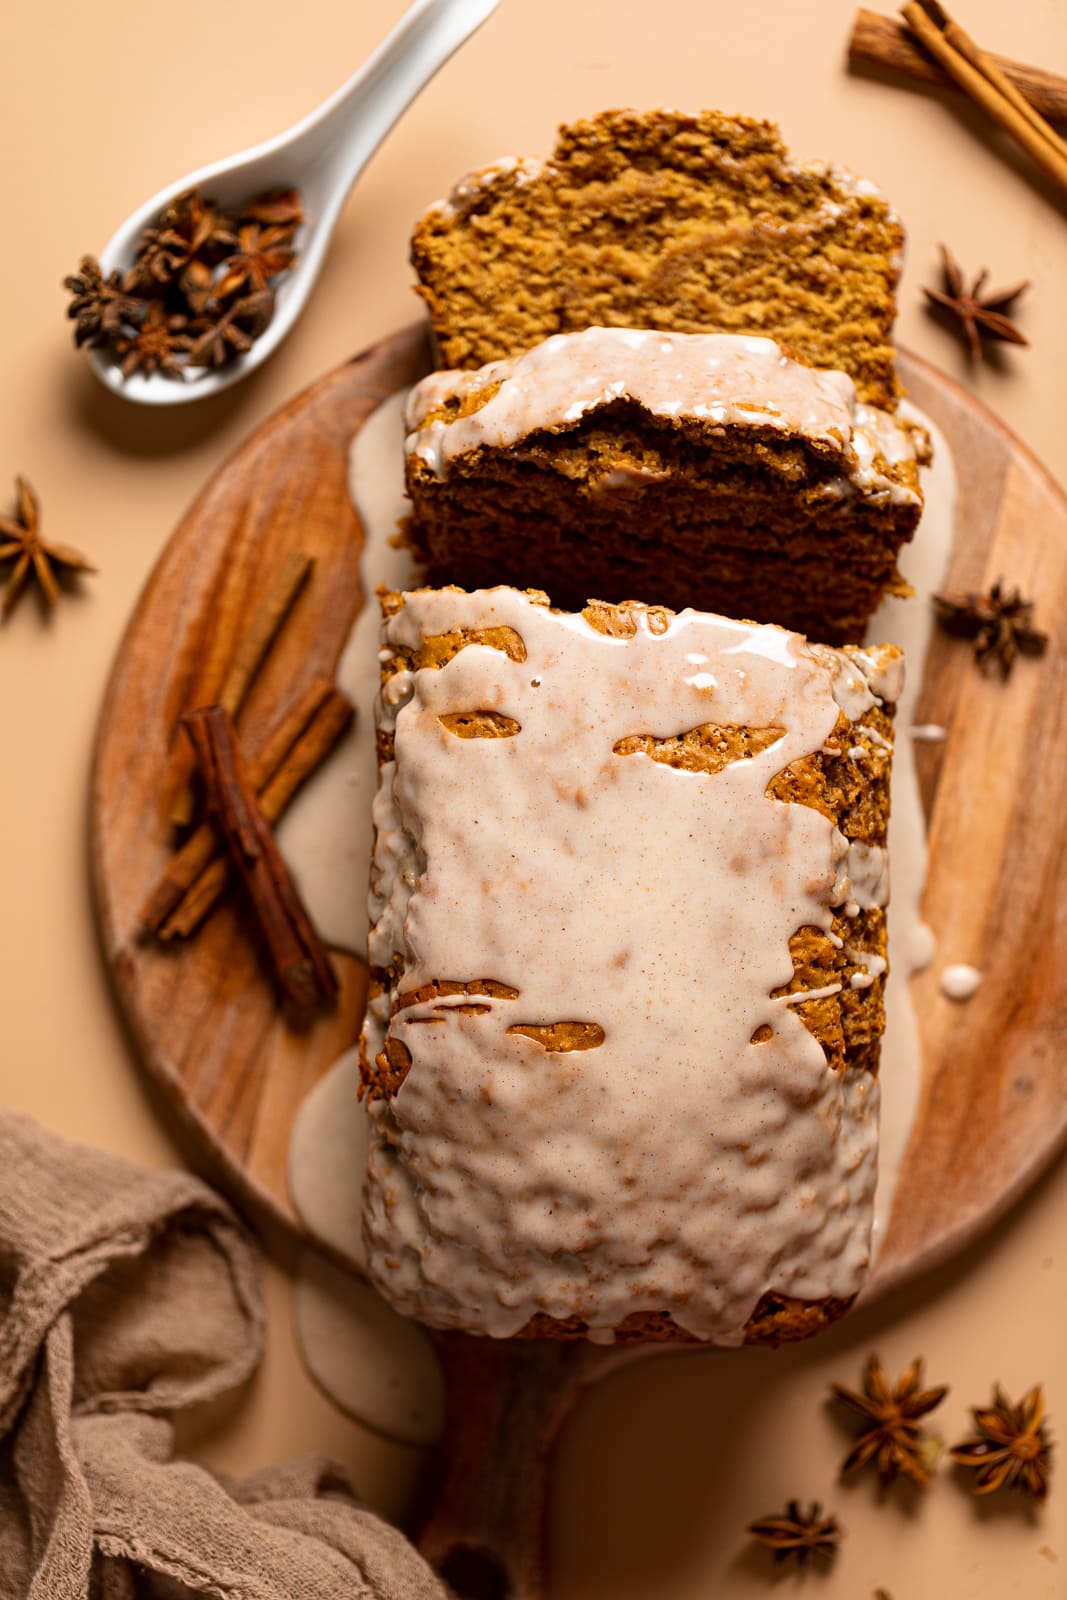
[[[296,189],[222,211],[198,189],[171,200],[144,230],[126,274],[94,256],[64,278],[74,342],[109,350],[123,376],[222,366],[251,349],[274,317],[278,277],[296,261],[304,221]]]

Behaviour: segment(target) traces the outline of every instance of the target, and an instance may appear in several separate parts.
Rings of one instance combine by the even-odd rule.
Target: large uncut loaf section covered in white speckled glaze
[[[869,1267],[901,654],[386,595],[368,1270],[494,1338],[776,1344]]]

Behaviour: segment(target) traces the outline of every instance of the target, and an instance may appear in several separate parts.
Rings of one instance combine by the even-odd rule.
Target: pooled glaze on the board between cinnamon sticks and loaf
[[[381,614],[374,590],[413,581],[406,546],[390,541],[411,509],[403,490],[403,403],[392,395],[355,435],[349,493],[363,523],[360,586],[363,610],[338,664],[338,686],[355,706],[352,731],[333,752],[278,824],[278,843],[291,864],[312,922],[328,944],[366,950],[366,877],[371,861],[371,803],[378,789],[374,699]]]

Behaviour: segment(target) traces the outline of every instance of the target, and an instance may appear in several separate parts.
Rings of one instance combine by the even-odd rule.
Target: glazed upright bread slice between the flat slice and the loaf
[[[537,584],[864,637],[921,514],[921,435],[773,339],[584,328],[406,406],[434,584]]]

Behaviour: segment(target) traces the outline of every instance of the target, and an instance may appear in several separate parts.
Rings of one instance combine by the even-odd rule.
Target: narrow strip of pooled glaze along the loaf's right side
[[[915,538],[901,552],[901,574],[913,594],[888,597],[875,611],[870,638],[889,638],[909,662],[907,682],[896,699],[896,722],[907,728],[923,685],[926,651],[933,635],[931,594],[944,587],[955,528],[955,467],[944,435],[910,402],[902,418],[929,429],[934,442],[933,466],[921,469],[923,517]],[[877,675],[872,688],[881,693]],[[889,814],[889,854],[893,858],[893,915],[889,918],[889,970],[886,984],[886,1030],[881,1038],[881,1128],[878,1136],[878,1190],[875,1195],[875,1258],[889,1222],[896,1184],[918,1107],[921,1053],[912,1006],[909,978],[934,958],[936,941],[921,920],[926,882],[926,824],[915,770],[912,739],[897,738],[893,755],[893,811]]]

